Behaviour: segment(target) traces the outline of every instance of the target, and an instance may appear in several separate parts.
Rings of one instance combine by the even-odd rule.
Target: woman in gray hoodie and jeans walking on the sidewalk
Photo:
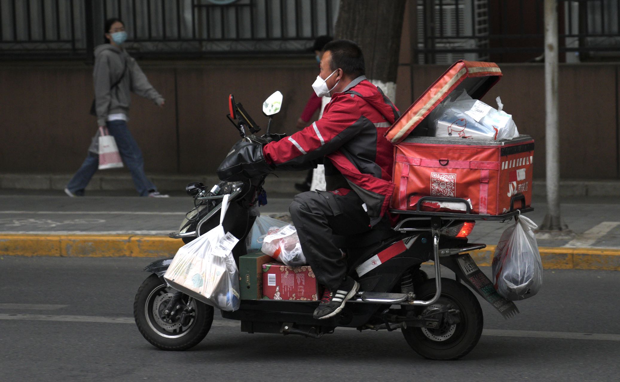
[[[127,128],[130,91],[148,98],[158,106],[164,106],[164,98],[149,84],[136,60],[122,48],[127,39],[123,22],[119,19],[106,20],[104,33],[107,43],[95,48],[93,72],[97,126],[107,128],[114,137],[118,152],[131,171],[131,178],[138,194],[167,198],[167,195],[160,194],[154,184],[146,178],[142,152]],[[98,136],[99,132],[89,147],[86,160],[64,189],[69,196],[84,196],[84,188],[99,167]]]

